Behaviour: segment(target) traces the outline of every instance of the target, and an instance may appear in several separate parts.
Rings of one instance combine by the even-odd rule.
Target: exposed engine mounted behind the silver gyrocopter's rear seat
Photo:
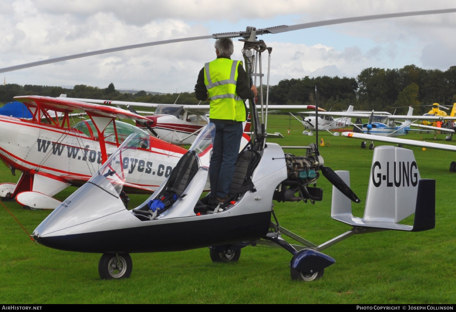
[[[311,144],[306,156],[295,156],[285,153],[287,178],[282,181],[274,192],[273,199],[278,202],[321,201],[323,189],[316,187],[316,180],[320,177],[318,172],[323,165],[323,157],[316,155],[317,148]],[[313,184],[312,187],[309,185]]]

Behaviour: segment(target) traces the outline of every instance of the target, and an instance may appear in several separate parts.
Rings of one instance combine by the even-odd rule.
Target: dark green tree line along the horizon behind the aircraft
[[[353,105],[357,110],[396,110],[396,114],[405,114],[409,105],[416,105],[415,114],[423,114],[430,109],[425,105],[452,105],[456,102],[456,66],[446,71],[423,69],[415,65],[407,65],[400,69],[366,68],[356,78],[306,76],[299,79],[283,79],[277,85],[269,86],[269,104],[315,104],[315,87],[318,90],[318,104],[326,110],[345,110],[348,105]],[[80,84],[73,89],[0,85],[0,102],[3,103],[11,101],[17,95],[57,97],[60,94],[67,94],[71,98],[145,103],[199,103],[194,93],[120,93],[113,83],[107,88]]]

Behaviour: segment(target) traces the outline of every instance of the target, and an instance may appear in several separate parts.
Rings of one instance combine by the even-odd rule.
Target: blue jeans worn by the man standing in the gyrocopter
[[[209,165],[210,196],[225,198],[233,180],[243,128],[241,122],[234,125],[214,122],[214,125],[215,138]]]

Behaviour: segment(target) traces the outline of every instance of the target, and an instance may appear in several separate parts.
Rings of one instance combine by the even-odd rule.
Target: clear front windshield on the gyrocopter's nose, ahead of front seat
[[[130,167],[134,163],[139,140],[135,133],[125,139],[88,183],[97,185],[115,197],[119,196],[128,174],[133,172]]]

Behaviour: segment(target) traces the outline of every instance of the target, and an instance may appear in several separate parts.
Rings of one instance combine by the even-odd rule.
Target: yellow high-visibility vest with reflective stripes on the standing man
[[[245,104],[236,92],[241,61],[216,58],[204,64],[204,84],[209,94],[209,118],[245,121]]]

